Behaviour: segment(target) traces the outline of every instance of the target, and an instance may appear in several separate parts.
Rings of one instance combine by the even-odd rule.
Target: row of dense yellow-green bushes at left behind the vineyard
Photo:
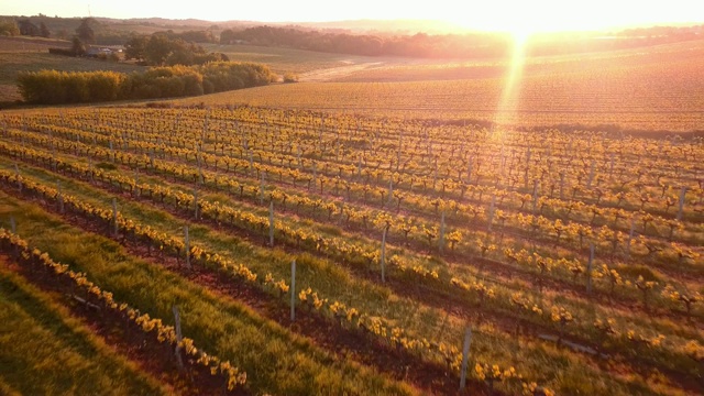
[[[198,96],[267,85],[268,66],[218,62],[202,66],[153,67],[146,72],[23,72],[18,86],[25,102],[62,105]]]

